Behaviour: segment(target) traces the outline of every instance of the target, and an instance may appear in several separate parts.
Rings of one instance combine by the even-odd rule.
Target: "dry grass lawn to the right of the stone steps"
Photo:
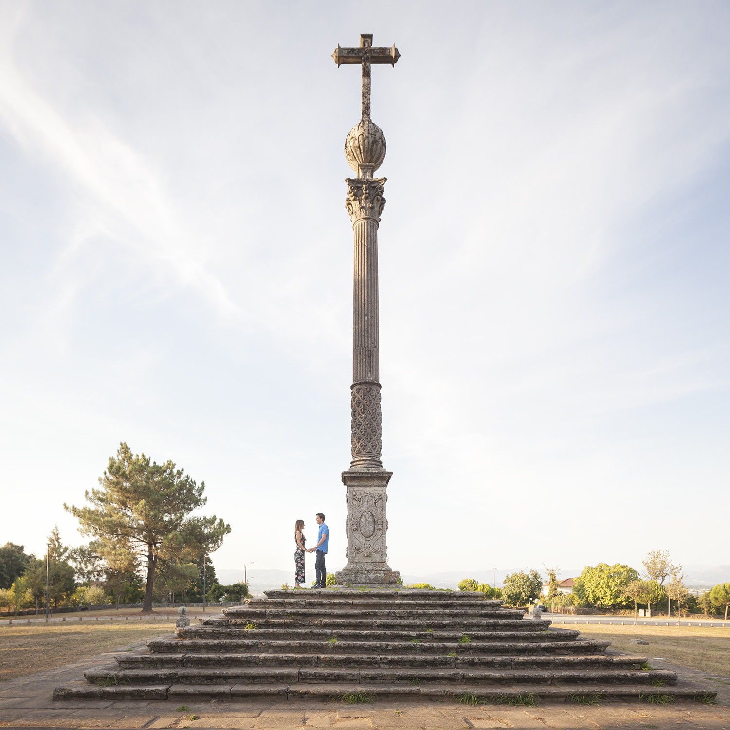
[[[563,628],[556,623],[556,628]],[[730,677],[730,629],[710,629],[704,626],[608,626],[605,624],[566,623],[566,629],[578,629],[589,639],[612,642],[611,648],[646,654],[649,664],[656,669],[661,661],[652,662],[655,656],[680,666],[702,669],[710,674]],[[631,644],[631,639],[648,641],[648,646]]]

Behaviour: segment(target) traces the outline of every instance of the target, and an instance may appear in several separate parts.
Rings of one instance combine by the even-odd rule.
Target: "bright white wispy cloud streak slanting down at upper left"
[[[0,35],[0,123],[72,184],[77,218],[61,260],[101,235],[162,264],[177,285],[198,291],[220,313],[240,313],[207,268],[205,247],[185,225],[164,176],[91,110],[72,115],[45,99],[13,61],[14,26],[5,23]]]

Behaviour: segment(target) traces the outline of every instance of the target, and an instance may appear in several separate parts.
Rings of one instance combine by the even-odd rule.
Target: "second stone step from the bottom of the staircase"
[[[448,657],[456,661],[456,658]],[[463,663],[462,663],[463,664]],[[657,680],[666,685],[677,682],[676,672],[621,669],[620,667],[591,669],[504,669],[464,664],[464,666],[427,667],[337,667],[337,666],[237,666],[191,667],[178,669],[118,669],[84,672],[89,684],[112,683],[133,685],[162,684],[237,684],[237,683],[439,683],[511,685],[531,683],[563,685],[566,683],[600,683],[646,685]]]

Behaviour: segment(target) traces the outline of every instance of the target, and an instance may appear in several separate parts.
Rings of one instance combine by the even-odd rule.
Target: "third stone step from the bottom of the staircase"
[[[466,667],[500,669],[639,669],[645,656],[473,656],[471,654],[423,655],[423,654],[314,654],[314,653],[234,653],[234,654],[122,654],[115,656],[121,669],[189,669],[199,667],[229,666],[336,666],[389,668],[447,668]]]

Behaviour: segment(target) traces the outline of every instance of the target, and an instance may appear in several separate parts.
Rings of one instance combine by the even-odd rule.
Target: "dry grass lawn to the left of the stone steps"
[[[0,682],[113,652],[174,631],[167,621],[23,623],[0,626]]]

